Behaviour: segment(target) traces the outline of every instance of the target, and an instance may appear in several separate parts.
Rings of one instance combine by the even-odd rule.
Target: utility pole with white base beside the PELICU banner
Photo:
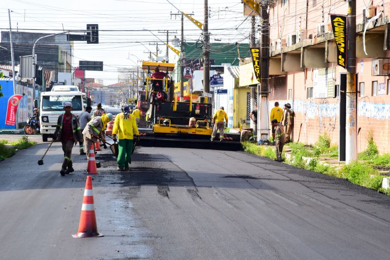
[[[268,0],[264,0],[261,5],[261,70],[260,70],[260,89],[257,90],[257,102],[259,104],[260,127],[257,136],[262,140],[269,140],[270,123],[268,120],[268,77],[270,66],[270,19],[267,13]]]

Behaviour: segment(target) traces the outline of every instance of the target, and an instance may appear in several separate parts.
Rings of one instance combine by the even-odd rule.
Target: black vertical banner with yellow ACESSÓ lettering
[[[331,15],[331,24],[337,45],[337,65],[347,68],[347,16]]]

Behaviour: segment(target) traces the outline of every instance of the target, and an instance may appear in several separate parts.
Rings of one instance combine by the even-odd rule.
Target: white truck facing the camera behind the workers
[[[87,106],[84,104],[84,96],[85,94],[79,91],[50,91],[40,94],[39,123],[43,142],[47,142],[48,137],[53,138],[58,117],[64,113],[64,103],[71,102],[72,113],[79,116]]]

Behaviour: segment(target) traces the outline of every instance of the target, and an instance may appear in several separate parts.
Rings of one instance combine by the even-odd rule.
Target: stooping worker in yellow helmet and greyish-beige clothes
[[[87,123],[82,134],[84,135],[85,150],[88,151],[91,148],[91,144],[99,142],[99,140],[105,143],[104,130],[107,127],[108,122],[113,119],[113,114],[103,114],[102,116],[95,116],[91,121]],[[95,150],[95,145],[94,145]],[[87,159],[89,159],[89,153],[87,152]],[[98,164],[97,164],[98,167]]]

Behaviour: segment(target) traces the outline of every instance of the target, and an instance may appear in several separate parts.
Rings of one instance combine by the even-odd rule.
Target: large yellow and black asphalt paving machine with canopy
[[[153,70],[159,66],[160,71],[170,72],[174,69],[172,63],[143,62],[142,69]],[[146,99],[150,103],[146,112],[146,128],[139,128],[141,146],[190,147],[201,149],[241,149],[240,133],[224,133],[222,142],[211,142],[213,132],[212,104],[206,98],[201,102],[193,102],[190,95],[189,102],[178,101],[173,94],[173,100],[167,98],[159,100],[158,91],[153,88],[152,79],[146,78]],[[168,77],[164,82],[165,92],[172,93],[174,87]],[[170,94],[172,96],[172,94]],[[206,100],[206,101],[205,101]],[[215,140],[219,140],[219,133]]]

